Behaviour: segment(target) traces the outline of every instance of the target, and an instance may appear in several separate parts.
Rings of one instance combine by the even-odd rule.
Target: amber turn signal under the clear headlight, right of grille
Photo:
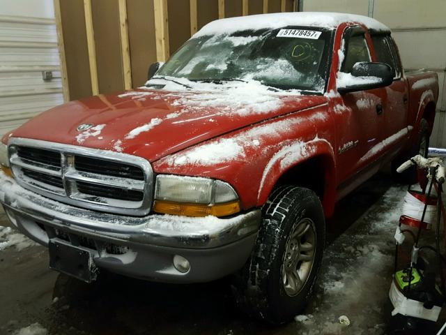
[[[156,200],[153,211],[160,214],[183,216],[228,216],[240,211],[240,202],[232,201],[224,204],[187,204]]]

